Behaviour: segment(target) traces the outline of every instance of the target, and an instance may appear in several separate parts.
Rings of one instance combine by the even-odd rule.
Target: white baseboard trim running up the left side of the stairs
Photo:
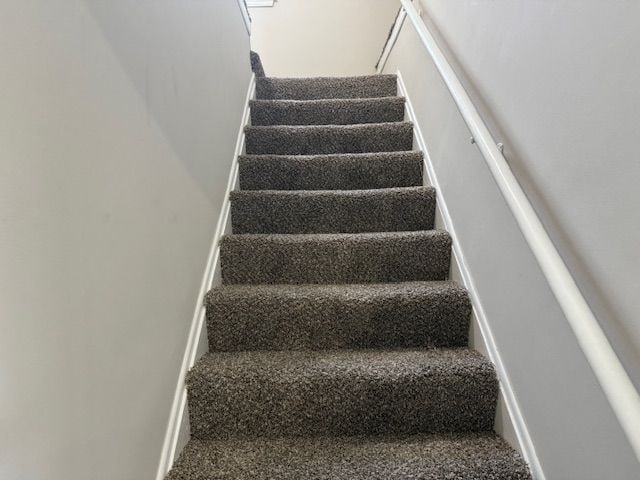
[[[224,195],[224,201],[218,217],[218,223],[211,242],[211,249],[207,259],[200,292],[196,301],[196,308],[191,320],[189,336],[187,337],[187,345],[185,347],[180,375],[171,405],[169,421],[165,432],[164,442],[162,444],[162,452],[156,472],[156,480],[163,480],[167,472],[173,466],[173,462],[184,445],[185,440],[189,437],[188,431],[188,414],[187,414],[187,390],[185,379],[187,373],[193,367],[194,363],[202,353],[206,351],[206,325],[205,325],[205,307],[204,297],[211,288],[219,282],[220,278],[220,239],[230,232],[230,214],[231,202],[229,195],[236,188],[238,183],[238,157],[244,152],[245,138],[244,128],[249,124],[249,100],[255,93],[255,75],[251,75],[249,88],[247,89],[247,97],[244,103],[244,111],[240,130],[236,140],[236,148],[233,154],[229,179],[227,180],[227,189]]]

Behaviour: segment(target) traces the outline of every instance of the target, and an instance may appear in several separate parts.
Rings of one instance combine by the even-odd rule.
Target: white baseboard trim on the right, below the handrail
[[[489,320],[482,307],[482,302],[480,301],[478,290],[476,289],[473,281],[473,275],[471,274],[469,266],[465,261],[464,252],[460,246],[458,237],[456,236],[454,223],[451,215],[449,214],[446,199],[443,197],[442,189],[440,188],[438,177],[436,175],[433,162],[429,155],[429,149],[427,148],[427,144],[422,135],[422,130],[420,129],[413,104],[411,103],[411,98],[409,97],[407,87],[402,78],[402,73],[398,71],[397,75],[398,95],[405,97],[406,99],[406,114],[408,120],[413,123],[415,145],[417,146],[418,150],[424,152],[425,172],[427,174],[430,185],[436,188],[436,222],[437,224],[440,223],[440,225],[442,225],[442,227],[449,232],[453,241],[451,276],[456,280],[459,279],[469,292],[471,303],[473,305],[473,328],[477,328],[480,331],[481,338],[484,343],[484,345],[480,347],[483,347],[481,348],[483,350],[483,353],[485,353],[495,365],[498,380],[500,382],[501,402],[506,407],[509,419],[511,421],[510,426],[517,438],[518,444],[516,445],[516,447],[520,450],[523,458],[529,464],[529,468],[531,469],[533,478],[535,480],[545,480],[542,466],[540,465],[538,456],[536,455],[535,446],[533,445],[533,441],[531,440],[531,436],[529,435],[529,430],[527,429],[524,417],[522,416],[522,412],[520,411],[520,407],[511,386],[511,382],[509,381],[509,376],[507,375],[505,365],[502,362],[500,352],[495,343]]]

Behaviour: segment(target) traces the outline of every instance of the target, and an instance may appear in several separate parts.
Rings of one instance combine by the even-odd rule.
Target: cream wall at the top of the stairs
[[[251,47],[275,77],[375,73],[397,0],[277,0],[251,8]]]

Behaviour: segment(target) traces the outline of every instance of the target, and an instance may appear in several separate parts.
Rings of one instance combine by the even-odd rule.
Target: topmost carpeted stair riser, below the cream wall
[[[317,78],[256,78],[258,100],[395,97],[396,75]]]

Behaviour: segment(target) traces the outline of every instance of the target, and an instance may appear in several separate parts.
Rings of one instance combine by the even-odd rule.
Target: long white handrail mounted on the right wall
[[[433,35],[411,0],[400,0],[400,2],[469,127],[476,145],[538,260],[553,294],[640,461],[640,395],[638,391]]]

